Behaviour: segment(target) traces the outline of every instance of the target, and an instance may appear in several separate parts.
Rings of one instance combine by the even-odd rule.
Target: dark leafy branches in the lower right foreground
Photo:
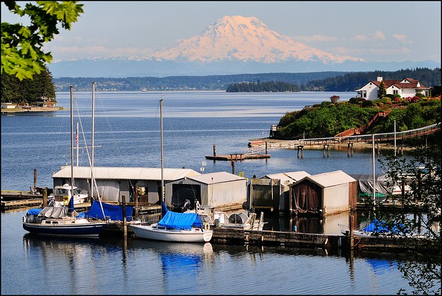
[[[410,192],[393,196],[402,207],[390,213],[376,210],[376,217],[423,233],[425,238],[414,241],[414,248],[406,251],[410,261],[399,265],[417,295],[441,295],[441,141],[439,130],[430,136],[428,145],[416,145],[410,156],[391,154],[379,160],[391,184],[411,180]]]

